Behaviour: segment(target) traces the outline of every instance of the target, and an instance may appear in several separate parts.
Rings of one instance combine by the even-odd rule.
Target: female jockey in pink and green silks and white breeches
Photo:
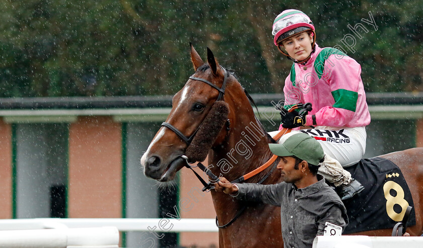
[[[297,103],[313,107],[303,117],[297,111],[282,111],[279,130],[313,126],[301,131],[320,141],[325,151],[319,174],[337,187],[342,200],[351,198],[364,187],[342,167],[363,157],[365,126],[370,123],[361,66],[338,49],[320,48],[313,23],[301,11],[280,13],[273,22],[272,35],[279,51],[294,61],[285,79],[284,108]]]

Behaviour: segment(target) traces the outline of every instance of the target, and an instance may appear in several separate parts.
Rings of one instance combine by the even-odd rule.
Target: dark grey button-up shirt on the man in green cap
[[[284,247],[312,247],[316,235],[323,235],[325,223],[342,227],[348,223],[346,209],[338,195],[318,176],[318,182],[297,189],[285,182],[273,185],[237,184],[237,199],[280,206]]]

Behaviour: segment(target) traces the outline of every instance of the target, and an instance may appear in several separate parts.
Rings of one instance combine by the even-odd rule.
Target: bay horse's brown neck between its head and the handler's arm
[[[228,95],[225,95],[233,115],[230,131],[226,140],[210,151],[208,161],[209,170],[213,174],[233,181],[260,167],[271,158],[272,153],[268,146],[271,141],[267,133],[255,118],[247,97],[242,97],[243,89],[237,84],[229,84],[228,86],[234,87],[231,90],[228,89]],[[235,89],[237,86],[238,90]],[[277,162],[278,160],[246,182],[259,182],[274,168]],[[280,178],[276,171],[274,170],[263,183],[276,183]],[[228,223],[236,215],[236,212],[243,207],[240,201],[234,201],[231,196],[222,192],[212,191],[212,199],[220,224]],[[260,214],[262,213],[257,213],[257,216]]]

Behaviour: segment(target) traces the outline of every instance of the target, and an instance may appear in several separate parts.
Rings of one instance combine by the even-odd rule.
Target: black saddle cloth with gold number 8
[[[402,221],[408,205],[413,210],[407,225],[415,225],[413,199],[395,163],[381,157],[366,158],[345,170],[365,189],[344,202],[349,224],[343,234],[393,228],[397,222]]]

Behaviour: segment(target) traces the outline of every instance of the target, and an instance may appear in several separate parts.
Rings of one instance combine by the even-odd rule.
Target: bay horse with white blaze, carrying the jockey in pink
[[[211,128],[215,122],[213,118],[208,120],[212,124],[205,125],[203,131],[205,136],[207,132],[215,132],[214,137],[207,141],[209,144],[197,144],[190,153],[195,156],[205,150],[205,154],[208,152],[208,164],[213,165],[208,167],[210,172],[230,181],[238,179],[272,157],[268,143],[275,141],[255,117],[249,97],[236,77],[219,65],[212,51],[207,48],[207,63],[202,61],[192,45],[190,54],[195,73],[173,97],[172,110],[166,122],[141,158],[144,173],[160,182],[173,180],[177,171],[187,164],[185,154],[187,149],[192,148],[190,144],[195,136],[200,135],[198,130],[206,122],[207,114],[214,111],[216,103],[224,103],[227,113],[223,117],[220,114],[213,117],[223,125]],[[221,110],[225,112],[225,108]],[[217,120],[219,118],[222,120]],[[207,130],[208,127],[210,130]],[[204,136],[204,132],[201,135]],[[423,227],[422,154],[423,148],[411,148],[381,156],[397,164],[410,188],[416,217],[416,225],[407,229],[410,235],[420,235]],[[205,158],[205,155],[200,157]],[[246,182],[258,183],[263,179],[262,184],[281,182],[279,173],[273,170],[278,162],[279,158],[276,158],[271,166]],[[219,228],[220,247],[283,247],[280,207],[262,203],[245,207],[248,203],[234,200],[223,192],[212,190],[211,194],[218,223],[233,221]],[[243,208],[245,210],[234,220]],[[392,229],[380,229],[354,234],[390,236],[391,232]]]

